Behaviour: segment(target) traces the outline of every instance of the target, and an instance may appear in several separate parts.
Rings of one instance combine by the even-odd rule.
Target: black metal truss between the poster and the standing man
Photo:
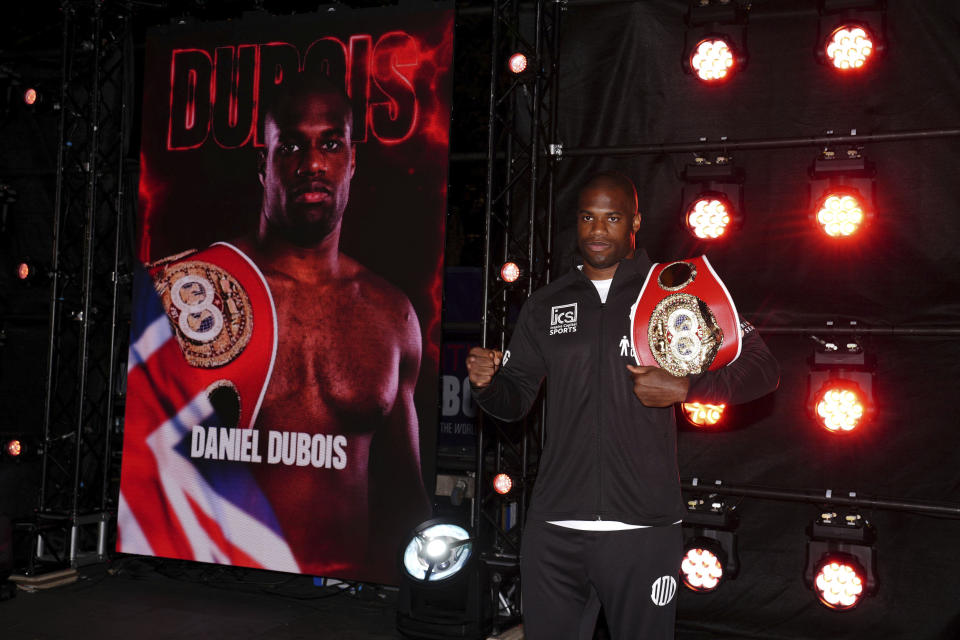
[[[519,0],[493,6],[482,340],[500,350],[524,300],[549,282],[553,258],[561,3],[537,0],[529,9]],[[517,52],[527,57],[521,74],[507,67]],[[500,276],[507,261],[520,267],[516,282]],[[543,411],[538,403],[521,425],[483,415],[478,421],[474,535],[493,578],[495,627],[520,613],[517,563],[544,441]],[[492,488],[498,473],[514,482],[505,496]]]

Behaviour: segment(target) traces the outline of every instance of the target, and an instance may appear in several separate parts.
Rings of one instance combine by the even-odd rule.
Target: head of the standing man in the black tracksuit
[[[623,258],[633,256],[634,234],[639,228],[634,200],[622,190],[595,185],[580,191],[577,246],[593,271],[616,267]]]

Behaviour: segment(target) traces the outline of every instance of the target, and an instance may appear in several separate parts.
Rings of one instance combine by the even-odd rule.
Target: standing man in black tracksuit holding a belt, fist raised
[[[475,347],[467,358],[477,403],[501,420],[525,415],[547,380],[547,444],[521,551],[530,640],[592,637],[598,600],[615,639],[673,638],[684,508],[672,405],[744,402],[778,383],[746,323],[740,357],[717,371],[634,366],[623,336],[651,267],[635,250],[639,228],[630,180],[591,178],[578,199],[582,266],[530,297],[505,353]]]

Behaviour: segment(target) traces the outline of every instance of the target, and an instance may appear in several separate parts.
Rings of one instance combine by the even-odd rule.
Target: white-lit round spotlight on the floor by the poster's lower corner
[[[406,637],[479,638],[492,627],[487,566],[463,526],[428,520],[400,557],[397,629]]]

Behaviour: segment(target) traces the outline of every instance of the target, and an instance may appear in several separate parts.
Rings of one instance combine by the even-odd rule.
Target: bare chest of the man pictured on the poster
[[[288,403],[306,421],[344,431],[374,428],[389,413],[399,349],[388,323],[364,300],[330,291],[284,295],[277,300],[277,323],[265,409]]]

